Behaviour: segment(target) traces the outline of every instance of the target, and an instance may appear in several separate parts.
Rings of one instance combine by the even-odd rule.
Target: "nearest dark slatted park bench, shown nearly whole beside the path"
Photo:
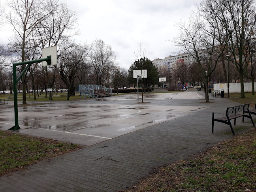
[[[218,122],[228,124],[231,128],[232,134],[235,135],[235,132],[233,130],[233,127],[232,127],[232,124],[231,124],[230,120],[235,119],[234,120],[234,125],[235,125],[236,118],[238,118],[238,117],[243,117],[243,122],[244,122],[244,117],[249,118],[252,121],[253,126],[255,127],[254,122],[252,120],[252,116],[250,115],[249,105],[250,104],[243,104],[243,105],[237,105],[237,106],[234,106],[234,107],[228,107],[227,110],[226,110],[226,115],[222,116],[222,117],[219,117],[217,119],[214,119],[214,114],[215,113],[213,113],[212,133],[213,133],[214,121],[218,121]],[[248,115],[246,115],[245,113],[248,113]]]

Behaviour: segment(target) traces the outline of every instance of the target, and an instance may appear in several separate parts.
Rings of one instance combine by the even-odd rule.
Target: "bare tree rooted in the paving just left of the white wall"
[[[208,78],[214,72],[225,46],[218,46],[216,26],[205,18],[197,14],[190,18],[188,24],[179,22],[181,30],[174,42],[190,53],[192,60],[198,64],[199,71],[195,72],[205,82],[205,100],[209,102]]]

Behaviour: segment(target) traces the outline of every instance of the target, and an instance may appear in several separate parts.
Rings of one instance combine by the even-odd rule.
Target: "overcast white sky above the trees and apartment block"
[[[4,2],[1,0],[1,4]],[[66,0],[77,12],[81,32],[76,40],[102,39],[117,55],[121,68],[129,69],[136,59],[138,44],[143,43],[150,60],[175,55],[171,46],[178,34],[175,26],[186,21],[200,0]],[[0,43],[6,43],[10,31],[0,31]]]

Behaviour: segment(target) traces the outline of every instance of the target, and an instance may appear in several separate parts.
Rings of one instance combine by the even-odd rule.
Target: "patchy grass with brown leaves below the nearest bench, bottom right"
[[[127,192],[256,191],[256,129],[141,179]]]

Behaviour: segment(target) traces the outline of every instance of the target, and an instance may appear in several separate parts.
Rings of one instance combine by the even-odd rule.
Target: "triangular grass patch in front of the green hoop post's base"
[[[72,143],[0,131],[0,175],[81,148]]]

